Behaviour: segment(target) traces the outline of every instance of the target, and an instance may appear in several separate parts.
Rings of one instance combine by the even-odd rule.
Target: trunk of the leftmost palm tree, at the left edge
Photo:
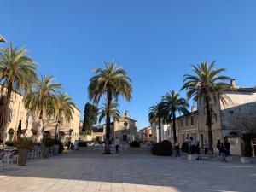
[[[6,105],[3,106],[5,114],[6,114],[4,116],[3,126],[2,126],[2,130],[1,130],[1,136],[2,136],[3,142],[6,141],[6,135],[7,135],[6,130],[7,130],[7,126],[8,126],[8,117],[9,117],[9,103],[11,100],[12,90],[13,90],[13,84],[12,84],[12,82],[9,82],[9,84],[7,86],[7,102],[6,102]]]

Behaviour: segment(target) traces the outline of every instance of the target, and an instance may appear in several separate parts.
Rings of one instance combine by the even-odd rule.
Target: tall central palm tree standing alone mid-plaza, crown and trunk
[[[97,68],[95,76],[90,79],[88,87],[89,98],[94,103],[98,104],[103,95],[107,98],[107,111],[106,111],[106,145],[105,153],[110,154],[109,150],[109,136],[110,136],[110,108],[113,102],[118,101],[118,96],[121,95],[126,101],[131,101],[131,79],[122,67],[116,67],[112,62],[105,63],[106,68]]]

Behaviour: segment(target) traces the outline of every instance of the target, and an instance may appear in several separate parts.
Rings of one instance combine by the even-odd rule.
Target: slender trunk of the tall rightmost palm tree
[[[210,111],[209,96],[206,96],[206,108],[207,108],[207,132],[208,132],[208,142],[209,142],[209,154],[213,154],[212,115]]]

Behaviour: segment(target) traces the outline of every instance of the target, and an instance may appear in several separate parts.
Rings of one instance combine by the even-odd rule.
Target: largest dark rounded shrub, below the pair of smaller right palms
[[[169,141],[155,143],[151,148],[151,153],[160,156],[172,156],[172,143]]]

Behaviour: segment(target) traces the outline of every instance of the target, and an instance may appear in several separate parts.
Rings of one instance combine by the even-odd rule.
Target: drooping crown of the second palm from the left
[[[24,96],[25,108],[38,115],[39,121],[43,120],[44,116],[55,115],[58,104],[57,93],[60,89],[61,84],[55,83],[53,76],[41,76],[41,79],[34,84],[32,92]]]

